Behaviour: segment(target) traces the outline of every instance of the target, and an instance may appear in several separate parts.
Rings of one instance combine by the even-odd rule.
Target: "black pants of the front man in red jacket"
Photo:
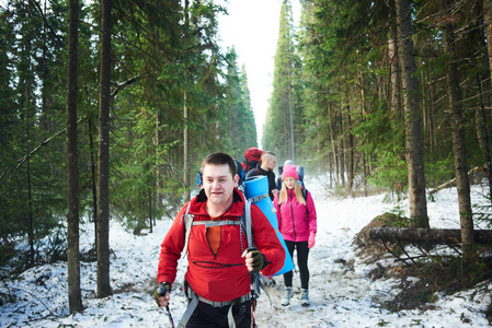
[[[186,328],[228,328],[227,313],[230,306],[214,307],[209,304],[198,302]],[[233,305],[232,315],[236,327],[251,328],[251,301]]]

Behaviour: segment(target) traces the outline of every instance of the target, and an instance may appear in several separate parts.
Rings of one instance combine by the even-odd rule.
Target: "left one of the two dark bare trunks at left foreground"
[[[70,313],[83,309],[80,292],[79,253],[79,155],[77,149],[77,77],[79,66],[79,1],[69,3],[68,72],[67,72],[67,267],[68,306]]]

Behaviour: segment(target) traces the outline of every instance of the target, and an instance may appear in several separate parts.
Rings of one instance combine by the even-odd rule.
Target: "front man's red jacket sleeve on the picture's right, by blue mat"
[[[262,270],[262,273],[273,276],[284,267],[284,247],[278,241],[268,219],[255,204],[251,204],[251,220],[253,222],[254,245],[266,257],[266,260],[271,262]]]

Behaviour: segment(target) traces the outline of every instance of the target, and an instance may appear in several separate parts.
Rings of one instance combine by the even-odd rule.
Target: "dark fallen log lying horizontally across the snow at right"
[[[477,230],[473,235],[477,244],[492,244],[492,230]],[[387,242],[459,244],[461,231],[459,229],[373,227],[369,231],[369,237]]]

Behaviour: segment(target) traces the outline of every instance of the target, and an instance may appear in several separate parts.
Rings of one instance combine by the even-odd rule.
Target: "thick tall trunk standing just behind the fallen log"
[[[410,219],[414,227],[428,227],[425,199],[424,157],[421,138],[421,115],[413,57],[412,22],[409,0],[396,0],[398,57],[400,59],[405,114],[405,155],[409,167]]]

